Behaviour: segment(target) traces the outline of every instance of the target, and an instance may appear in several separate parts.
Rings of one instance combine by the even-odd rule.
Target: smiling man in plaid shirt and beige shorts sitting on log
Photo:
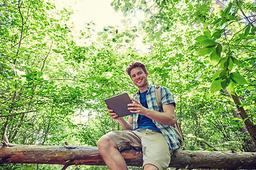
[[[142,149],[143,169],[166,169],[174,149],[180,147],[174,130],[176,117],[174,97],[166,87],[161,87],[162,108],[156,103],[156,86],[149,84],[149,72],[142,62],[134,61],[126,69],[132,82],[138,87],[133,103],[128,104],[128,121],[116,118],[117,114],[108,109],[111,117],[118,120],[124,131],[103,135],[97,143],[100,155],[112,170],[127,170],[127,164],[120,154],[123,149]]]

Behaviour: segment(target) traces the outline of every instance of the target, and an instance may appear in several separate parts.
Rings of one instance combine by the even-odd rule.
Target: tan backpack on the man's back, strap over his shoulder
[[[155,93],[156,93],[156,103],[159,106],[159,108],[162,108],[162,106],[161,106],[161,86],[156,86]],[[175,113],[175,117],[176,117],[176,123],[174,125],[174,129],[176,131],[178,141],[181,143],[184,140],[184,137],[183,137],[183,134],[181,131],[181,126],[178,124],[176,113]]]

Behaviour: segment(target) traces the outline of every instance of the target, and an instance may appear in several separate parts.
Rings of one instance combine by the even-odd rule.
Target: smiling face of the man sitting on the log
[[[136,86],[143,87],[143,86],[149,85],[149,82],[147,80],[149,73],[148,72],[144,73],[142,68],[136,67],[131,70],[130,74],[131,74],[131,79]]]

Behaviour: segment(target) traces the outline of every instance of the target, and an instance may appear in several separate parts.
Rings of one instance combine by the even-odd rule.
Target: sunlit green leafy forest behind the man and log
[[[183,149],[256,152],[255,4],[114,0],[113,11],[126,17],[122,26],[95,31],[89,22],[74,33],[73,11],[50,1],[0,0],[1,140],[5,134],[20,145],[96,147],[102,135],[121,130],[104,99],[137,91],[124,69],[139,60],[151,84],[175,97]],[[141,12],[145,18],[134,26]]]

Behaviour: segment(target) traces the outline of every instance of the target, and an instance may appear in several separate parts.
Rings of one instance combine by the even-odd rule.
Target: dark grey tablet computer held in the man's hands
[[[125,115],[134,114],[128,110],[127,104],[132,103],[132,100],[127,93],[107,98],[104,101],[107,104],[108,108],[113,110],[114,113],[117,113],[117,118],[124,117]]]

